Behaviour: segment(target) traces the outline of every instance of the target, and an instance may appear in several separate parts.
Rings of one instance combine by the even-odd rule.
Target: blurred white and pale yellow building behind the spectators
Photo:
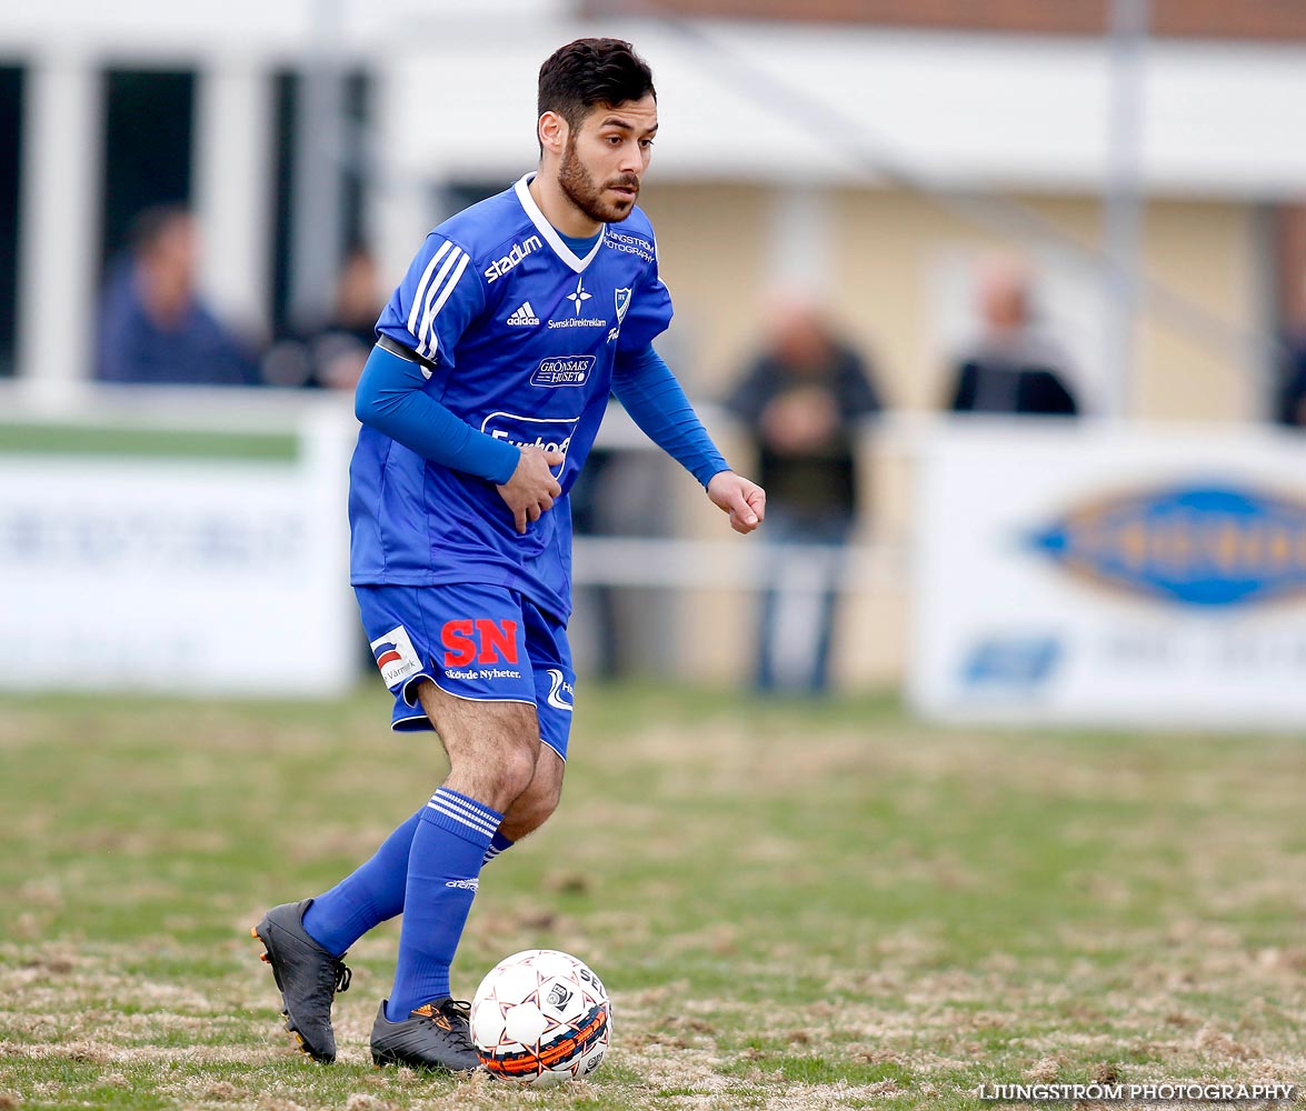
[[[4,396],[57,405],[89,373],[101,261],[123,219],[106,166],[127,159],[128,140],[157,146],[183,181],[214,304],[268,329],[325,303],[349,235],[397,277],[445,208],[529,168],[539,61],[603,34],[633,40],[658,84],[643,202],[691,396],[724,389],[771,287],[804,285],[874,350],[897,409],[934,409],[944,356],[969,325],[970,264],[1016,247],[1041,264],[1045,309],[1077,352],[1089,407],[1202,420],[1268,411],[1282,311],[1275,211],[1306,195],[1306,43],[1156,39],[1134,64],[1098,37],[580,10],[562,0],[4,5],[0,120],[21,123],[17,136],[0,132],[13,193],[7,213],[0,180],[0,235],[8,219],[17,248],[0,258],[17,290],[7,304],[0,273],[0,362],[8,343],[18,379]],[[128,104],[108,74],[150,73],[179,74],[180,101],[107,133],[114,104]],[[178,103],[189,106],[185,125],[170,133],[191,149],[151,146]],[[138,157],[121,180],[159,184]],[[1136,255],[1127,234],[1105,236],[1113,184],[1126,217],[1135,187],[1143,198]],[[1136,320],[1117,312],[1104,252],[1126,275],[1139,264]],[[875,535],[889,548],[909,503],[899,443],[867,450]],[[691,534],[708,527],[696,510],[683,520]],[[901,608],[892,576],[858,601],[849,675],[896,674],[899,638],[884,631]],[[684,666],[738,670],[739,651],[734,663],[713,651],[697,648]]]

